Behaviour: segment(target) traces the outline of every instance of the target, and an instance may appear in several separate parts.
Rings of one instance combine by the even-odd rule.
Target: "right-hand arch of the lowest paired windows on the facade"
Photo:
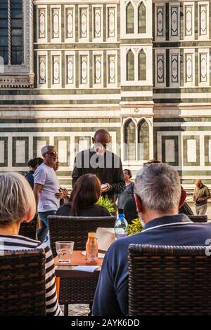
[[[145,119],[139,121],[138,125],[138,159],[149,159],[149,126]]]

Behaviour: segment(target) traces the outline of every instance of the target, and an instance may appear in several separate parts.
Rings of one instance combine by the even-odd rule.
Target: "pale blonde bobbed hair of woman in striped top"
[[[23,176],[0,174],[0,226],[15,223],[30,211],[35,212],[35,207],[34,193]]]

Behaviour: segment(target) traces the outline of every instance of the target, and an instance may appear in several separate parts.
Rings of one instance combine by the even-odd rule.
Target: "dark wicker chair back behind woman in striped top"
[[[0,315],[46,315],[44,250],[0,256]]]

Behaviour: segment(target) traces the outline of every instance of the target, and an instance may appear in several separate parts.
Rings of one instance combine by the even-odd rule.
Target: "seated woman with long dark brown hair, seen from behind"
[[[101,197],[101,181],[94,174],[80,176],[70,195],[70,203],[61,206],[56,216],[110,216],[108,210],[96,205]]]

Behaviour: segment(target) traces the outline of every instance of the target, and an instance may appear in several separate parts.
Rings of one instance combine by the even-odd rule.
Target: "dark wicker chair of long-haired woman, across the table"
[[[115,217],[72,217],[48,216],[51,250],[56,256],[56,241],[73,241],[75,250],[84,250],[88,232],[96,232],[98,227],[114,227]],[[60,279],[59,302],[65,305],[68,315],[68,304],[87,303],[94,299],[98,279]]]

